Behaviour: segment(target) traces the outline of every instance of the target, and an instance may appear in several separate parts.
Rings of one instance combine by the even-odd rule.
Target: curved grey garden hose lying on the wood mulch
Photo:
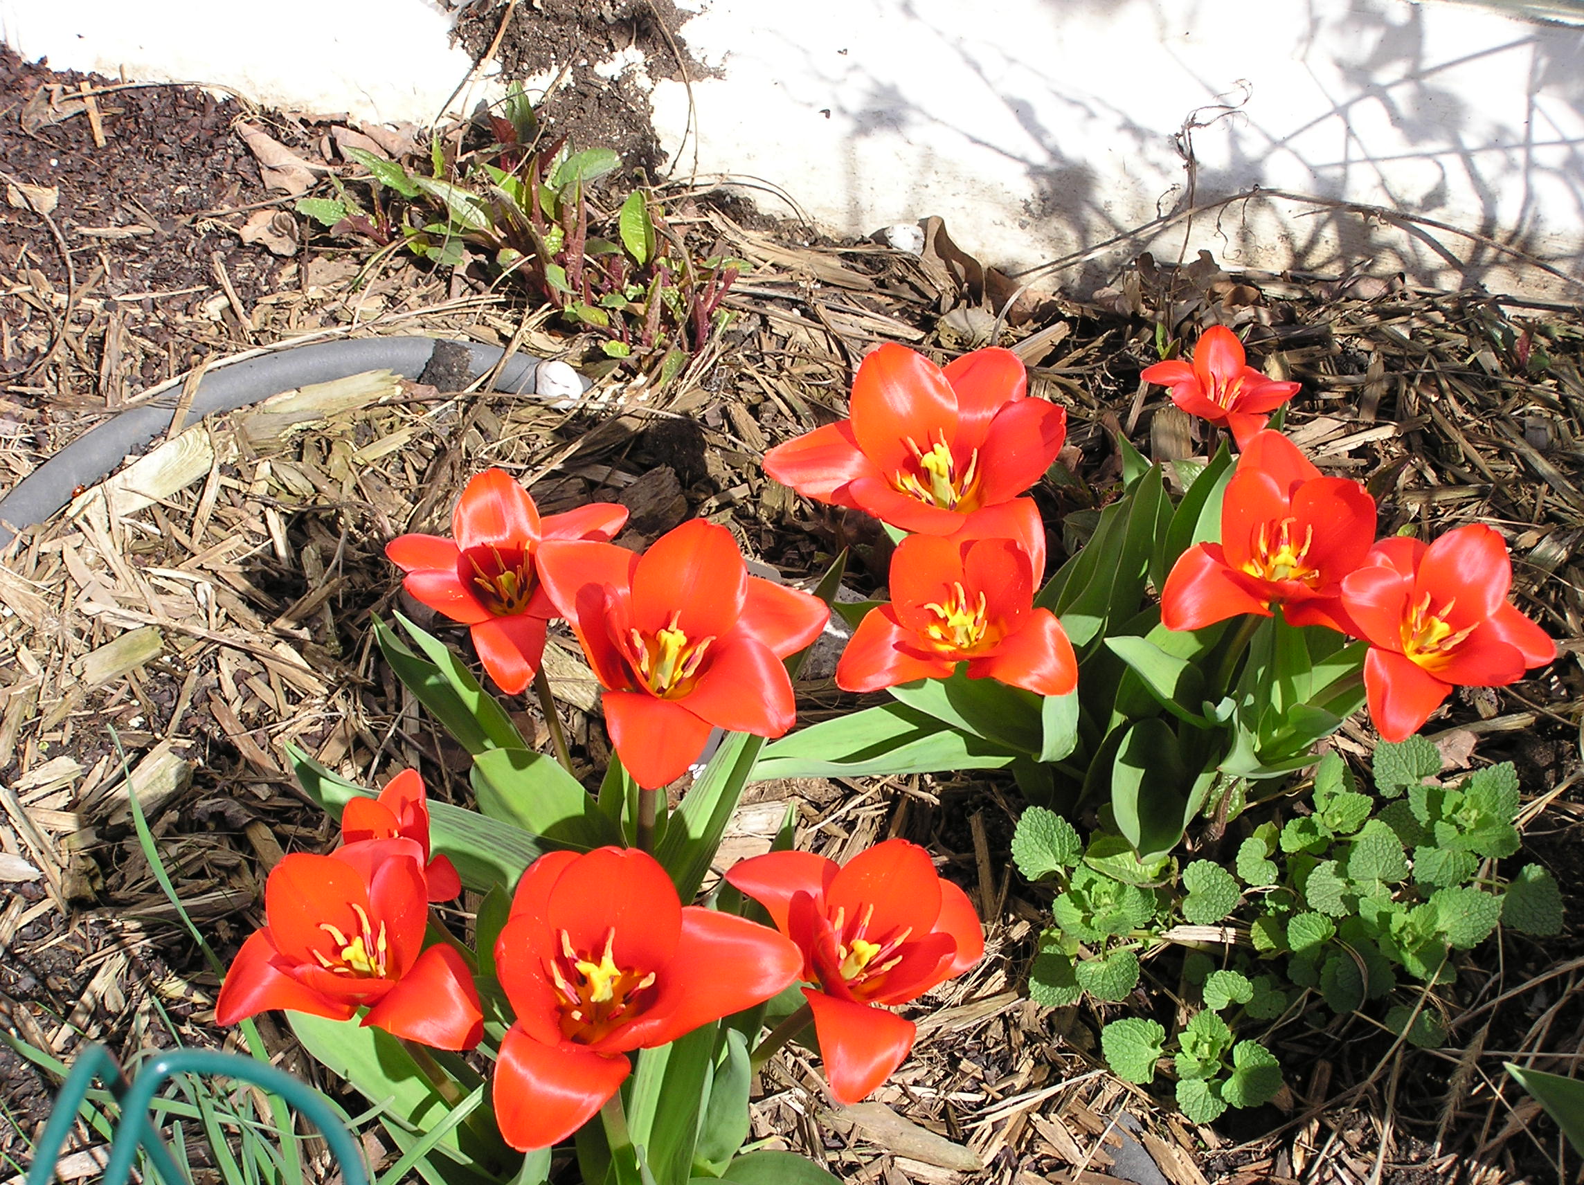
[[[406,379],[417,379],[442,345],[467,350],[467,382],[501,360],[501,350],[494,345],[445,342],[439,337],[344,337],[296,345],[208,371],[193,393],[190,417],[200,420],[215,412],[233,412],[280,391],[345,379],[364,371],[394,371]],[[532,391],[539,361],[513,353],[496,377],[494,390]],[[179,387],[179,382],[168,387]],[[128,407],[79,436],[17,482],[11,493],[0,499],[0,548],[14,539],[17,531],[38,526],[62,510],[78,486],[98,485],[128,453],[141,452],[169,426],[171,410],[169,399]]]

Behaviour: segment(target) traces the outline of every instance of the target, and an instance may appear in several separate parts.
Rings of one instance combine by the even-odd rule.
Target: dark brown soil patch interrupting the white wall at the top
[[[504,14],[505,3],[485,3],[458,17],[456,36],[475,59],[494,44]],[[508,79],[570,67],[540,112],[553,135],[569,136],[578,147],[615,149],[629,170],[654,177],[665,152],[649,122],[648,95],[626,74],[604,79],[592,67],[635,46],[651,78],[702,76],[706,71],[681,38],[684,21],[672,0],[540,0],[512,13],[496,60]]]

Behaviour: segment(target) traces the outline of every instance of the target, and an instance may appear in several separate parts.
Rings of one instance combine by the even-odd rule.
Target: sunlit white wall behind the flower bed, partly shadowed
[[[1584,30],[1408,0],[689,0],[719,78],[661,81],[676,176],[746,174],[863,234],[930,214],[988,263],[1028,268],[1253,185],[1388,206],[1475,238],[1261,198],[1188,242],[1242,266],[1405,268],[1441,285],[1581,299]],[[527,8],[524,5],[524,8]],[[0,35],[57,67],[204,78],[261,101],[431,119],[466,74],[425,0],[0,0]],[[676,149],[681,149],[680,152]],[[765,201],[775,208],[775,201]],[[1185,227],[1061,279],[1102,282]]]

